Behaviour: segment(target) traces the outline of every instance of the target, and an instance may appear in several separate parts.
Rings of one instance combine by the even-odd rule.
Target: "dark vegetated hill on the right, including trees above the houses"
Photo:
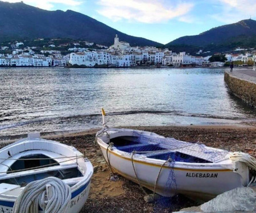
[[[234,48],[256,48],[256,21],[241,20],[234,24],[227,24],[212,28],[199,35],[183,36],[166,44],[173,51],[183,51],[191,54],[199,49],[211,52],[232,51]]]

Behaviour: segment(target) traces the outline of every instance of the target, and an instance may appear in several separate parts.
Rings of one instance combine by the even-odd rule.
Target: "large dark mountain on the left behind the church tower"
[[[19,3],[0,1],[0,41],[36,38],[69,38],[112,45],[118,34],[131,45],[162,45],[142,37],[123,34],[87,15],[67,11],[47,11]]]

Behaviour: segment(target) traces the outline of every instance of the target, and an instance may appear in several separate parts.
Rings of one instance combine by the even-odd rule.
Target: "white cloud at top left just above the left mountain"
[[[14,2],[20,2],[20,1],[9,0],[7,2],[14,3]],[[81,5],[81,3],[82,3],[80,0],[78,0],[78,1],[77,0],[38,0],[38,1],[23,0],[23,2],[28,4],[28,5],[39,7],[39,8],[44,9],[44,10],[53,9],[55,3],[59,3],[61,5],[68,5],[68,6],[78,6],[78,5]]]

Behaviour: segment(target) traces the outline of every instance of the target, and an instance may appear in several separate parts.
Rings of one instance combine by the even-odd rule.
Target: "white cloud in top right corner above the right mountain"
[[[243,19],[256,18],[255,0],[218,0],[221,11],[212,17],[220,22],[234,23]]]

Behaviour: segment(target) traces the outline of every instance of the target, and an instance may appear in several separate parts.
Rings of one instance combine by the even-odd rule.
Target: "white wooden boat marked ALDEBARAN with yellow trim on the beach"
[[[251,169],[240,161],[245,153],[106,126],[97,133],[97,143],[113,172],[164,197],[179,193],[208,200],[247,186],[251,178]],[[255,165],[253,157],[248,159]]]

